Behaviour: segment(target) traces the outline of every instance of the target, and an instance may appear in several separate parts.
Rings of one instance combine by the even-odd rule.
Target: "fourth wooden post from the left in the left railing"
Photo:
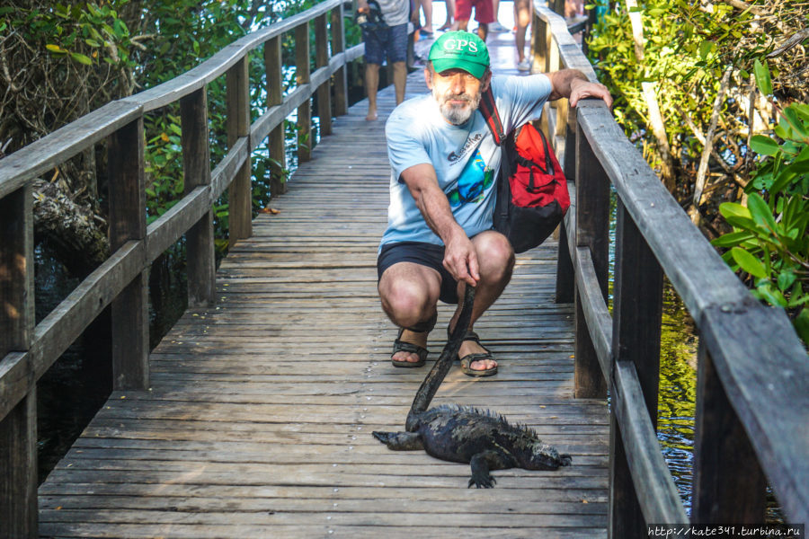
[[[250,75],[244,55],[227,70],[227,147],[232,148],[241,137],[250,136]],[[230,241],[249,238],[253,234],[253,193],[250,185],[250,157],[236,172],[227,190]]]

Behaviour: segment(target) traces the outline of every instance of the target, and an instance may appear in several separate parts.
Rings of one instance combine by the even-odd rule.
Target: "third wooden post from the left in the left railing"
[[[200,88],[180,100],[182,121],[182,178],[185,193],[210,185],[208,89]],[[185,234],[188,268],[188,305],[213,305],[216,301],[213,210]]]

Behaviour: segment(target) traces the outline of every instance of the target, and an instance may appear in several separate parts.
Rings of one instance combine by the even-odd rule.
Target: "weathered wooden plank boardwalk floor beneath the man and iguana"
[[[495,38],[496,40],[497,38]],[[513,36],[502,36],[512,43]],[[425,91],[420,72],[408,93]],[[393,108],[380,93],[380,118]],[[151,355],[148,392],[113,393],[40,486],[44,537],[606,537],[609,416],[573,400],[573,309],[556,305],[556,243],[518,257],[476,325],[501,367],[453,369],[435,403],[525,422],[573,465],[494,473],[391,452],[426,369],[387,360],[378,305],[386,225],[384,120],[365,102],[334,122],[218,271],[218,305],[191,310]],[[440,306],[430,362],[452,307]],[[428,365],[429,367],[429,365]]]

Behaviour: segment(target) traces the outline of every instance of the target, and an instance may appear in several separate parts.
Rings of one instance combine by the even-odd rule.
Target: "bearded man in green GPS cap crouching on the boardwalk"
[[[467,283],[476,287],[475,308],[458,357],[467,376],[492,376],[497,361],[472,328],[511,280],[514,251],[492,228],[501,150],[477,110],[481,96],[491,84],[506,133],[538,118],[548,100],[612,99],[574,69],[492,77],[484,41],[467,31],[444,33],[428,59],[431,94],[403,102],[385,128],[390,206],[377,269],[382,308],[401,328],[391,362],[424,364],[438,301],[458,304]]]

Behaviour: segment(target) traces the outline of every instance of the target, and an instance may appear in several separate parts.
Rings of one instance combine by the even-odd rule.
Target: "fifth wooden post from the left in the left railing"
[[[267,74],[267,108],[284,102],[283,62],[281,60],[281,36],[264,43],[264,72]],[[287,192],[287,120],[270,132],[270,193],[273,197]]]

